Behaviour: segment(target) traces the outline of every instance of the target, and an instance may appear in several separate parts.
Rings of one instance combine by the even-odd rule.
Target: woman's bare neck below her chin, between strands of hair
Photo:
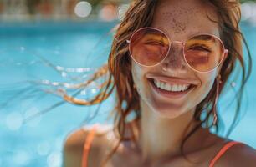
[[[195,122],[192,122],[193,114],[194,112],[191,111],[175,119],[166,119],[159,117],[159,115],[147,108],[146,105],[141,104],[141,120],[138,124],[137,140],[142,161],[154,161],[165,156],[180,155],[182,140],[196,125]],[[202,134],[202,130],[198,130],[197,135],[192,135],[191,139],[187,140],[186,143],[192,146],[185,144],[187,148],[187,151],[184,149],[185,152],[196,149],[194,145],[198,145],[198,136],[201,142],[206,137],[202,136],[205,135],[206,130],[203,132],[204,134]]]

